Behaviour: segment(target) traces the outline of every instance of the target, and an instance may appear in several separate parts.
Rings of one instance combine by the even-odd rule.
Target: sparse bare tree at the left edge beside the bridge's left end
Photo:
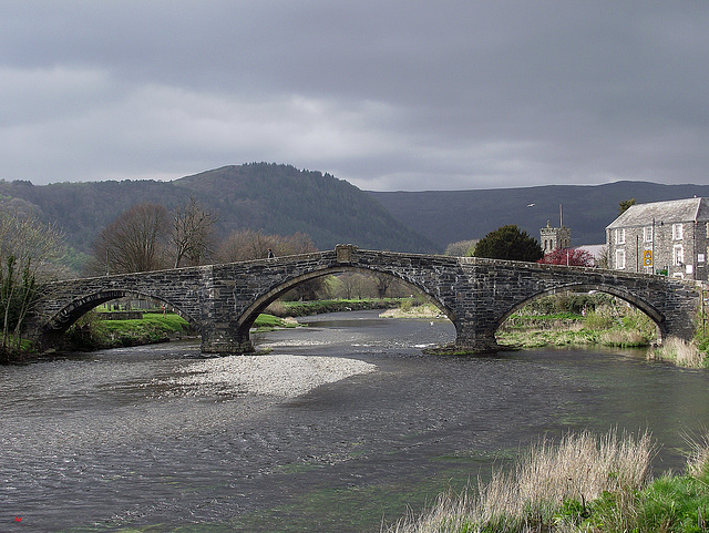
[[[0,212],[0,352],[20,348],[27,315],[58,271],[62,233],[34,215]]]

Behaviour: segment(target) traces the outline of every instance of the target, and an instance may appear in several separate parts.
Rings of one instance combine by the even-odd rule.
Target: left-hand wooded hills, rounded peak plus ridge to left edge
[[[135,204],[174,208],[194,196],[218,216],[218,232],[308,234],[320,249],[336,244],[394,252],[434,252],[430,240],[343,180],[290,165],[225,166],[173,182],[123,181],[32,185],[0,181],[0,208],[14,205],[58,223],[70,245],[90,252],[103,227]]]

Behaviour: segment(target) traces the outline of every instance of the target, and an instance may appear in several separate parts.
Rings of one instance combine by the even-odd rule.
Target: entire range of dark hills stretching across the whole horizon
[[[172,182],[56,183],[0,180],[0,208],[34,211],[58,223],[68,242],[90,252],[99,232],[135,204],[172,209],[194,196],[218,216],[218,232],[260,229],[308,234],[320,249],[351,243],[394,252],[443,252],[450,243],[483,237],[516,224],[535,238],[547,221],[572,229],[572,244],[605,243],[618,203],[709,196],[709,185],[616,182],[473,191],[362,192],[330,174],[290,165],[251,163],[202,172]]]

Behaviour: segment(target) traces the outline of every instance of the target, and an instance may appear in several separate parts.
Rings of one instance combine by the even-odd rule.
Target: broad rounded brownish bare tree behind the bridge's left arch
[[[105,274],[148,271],[167,266],[169,215],[157,204],[131,207],[106,226],[93,244],[92,269]]]

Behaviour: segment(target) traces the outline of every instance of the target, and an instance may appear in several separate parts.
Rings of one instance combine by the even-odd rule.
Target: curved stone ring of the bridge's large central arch
[[[292,276],[288,279],[280,280],[271,287],[268,287],[260,294],[239,316],[237,319],[237,327],[242,335],[248,335],[248,330],[253,326],[254,321],[273,301],[280,298],[282,295],[288,293],[290,289],[297,287],[298,285],[309,281],[311,279],[317,279],[325,276],[343,274],[343,273],[359,273],[359,274],[384,274],[391,276],[395,279],[400,279],[407,285],[414,287],[425,299],[431,303],[435,307],[438,307],[449,319],[454,319],[454,314],[451,309],[449,309],[442,301],[436,299],[433,295],[431,295],[425,287],[412,281],[411,279],[407,279],[403,276],[398,276],[394,273],[387,271],[384,269],[378,268],[366,268],[361,266],[352,266],[352,265],[338,265],[338,266],[329,266],[326,268],[319,268],[311,270],[309,273],[299,274]]]

